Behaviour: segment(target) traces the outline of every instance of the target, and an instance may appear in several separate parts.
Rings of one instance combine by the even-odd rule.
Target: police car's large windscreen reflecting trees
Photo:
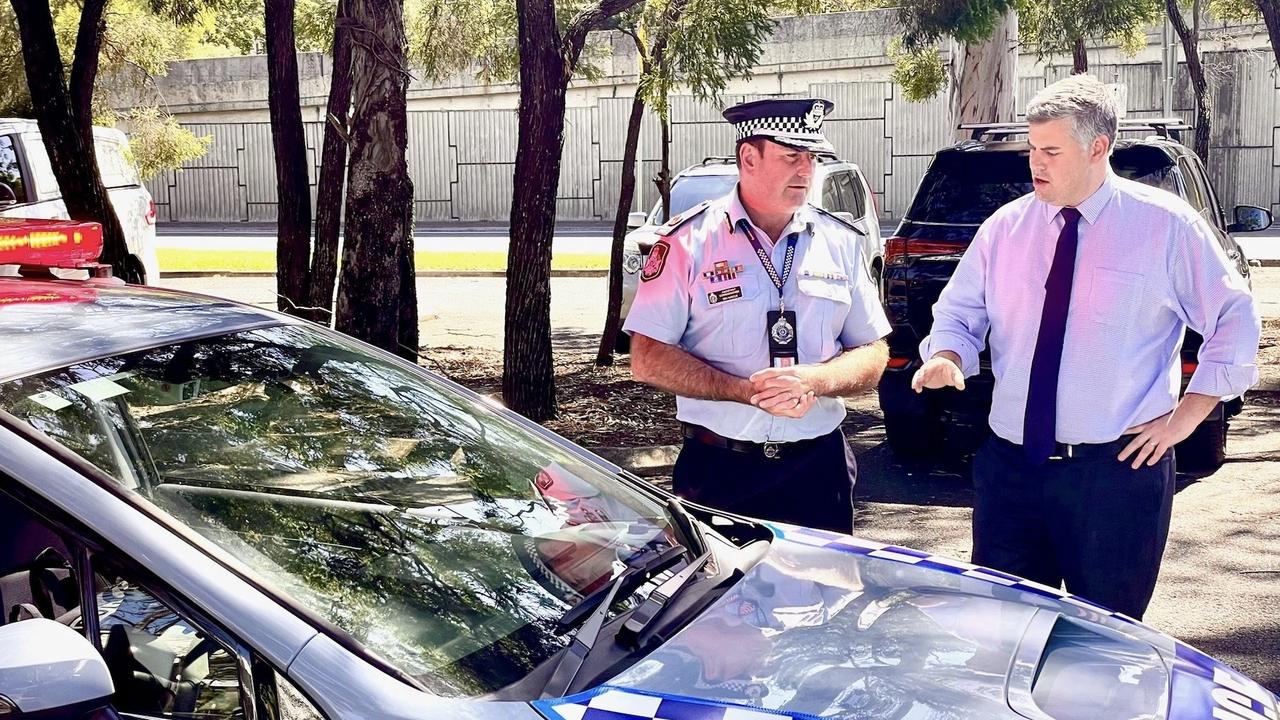
[[[525,678],[570,606],[673,544],[590,456],[320,328],[91,360],[0,406],[439,694]]]

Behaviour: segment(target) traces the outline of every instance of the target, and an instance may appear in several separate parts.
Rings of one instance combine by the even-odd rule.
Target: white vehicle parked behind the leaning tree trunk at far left
[[[129,159],[129,141],[118,129],[96,127],[93,146],[102,184],[124,228],[128,261],[142,282],[154,283],[160,278],[156,204]],[[0,118],[0,217],[68,218],[36,120]]]

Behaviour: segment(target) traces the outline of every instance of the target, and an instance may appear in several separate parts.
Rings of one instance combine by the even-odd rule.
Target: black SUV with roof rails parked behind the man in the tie
[[[963,127],[972,129],[973,140],[934,155],[910,209],[884,247],[884,307],[893,332],[879,401],[890,447],[902,459],[966,455],[991,432],[987,415],[993,378],[988,352],[983,352],[982,370],[965,382],[964,392],[911,391],[911,377],[920,366],[920,340],[933,324],[933,304],[978,225],[1001,205],[1032,192],[1027,142],[1009,140],[1025,135],[1025,123]],[[1235,222],[1228,224],[1204,164],[1178,142],[1181,129],[1189,128],[1178,119],[1121,122],[1121,133],[1142,132],[1147,137],[1119,138],[1111,167],[1121,177],[1190,202],[1210,220],[1228,258],[1248,279],[1249,265],[1230,233],[1263,229],[1271,224],[1271,213],[1242,205],[1235,208]],[[1199,345],[1201,337],[1188,331],[1183,342],[1184,389],[1196,370]],[[1178,446],[1179,470],[1211,473],[1221,466],[1228,420],[1242,405],[1239,398],[1220,404]]]

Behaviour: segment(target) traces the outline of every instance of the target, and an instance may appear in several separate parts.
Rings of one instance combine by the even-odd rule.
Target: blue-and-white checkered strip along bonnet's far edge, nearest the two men
[[[1004,585],[1006,588],[1014,588],[1018,591],[1029,592],[1042,597],[1050,597],[1057,601],[1076,605],[1092,612],[1098,612],[1108,618],[1123,620],[1125,623],[1137,623],[1137,620],[1129,618],[1128,615],[1124,615],[1121,612],[1114,612],[1083,597],[1068,594],[1060,589],[1051,588],[1048,585],[1042,585],[1032,580],[1025,580],[1023,578],[1019,578],[1018,575],[1001,573],[1000,570],[992,570],[991,568],[982,568],[972,562],[954,560],[951,557],[946,557],[942,555],[931,555],[928,552],[920,552],[919,550],[911,550],[909,547],[897,547],[874,541],[841,536],[827,530],[815,530],[813,528],[792,528],[792,527],[781,528],[778,525],[772,525],[772,524],[769,527],[774,533],[778,534],[778,537],[785,538],[790,542],[808,544],[810,547],[838,550],[841,552],[861,555],[865,557],[876,557],[878,560],[890,560],[893,562],[902,562],[906,565],[915,565],[919,568],[928,568],[931,570],[950,573],[952,575],[964,575],[966,578],[974,578],[978,580],[995,583],[997,585]]]

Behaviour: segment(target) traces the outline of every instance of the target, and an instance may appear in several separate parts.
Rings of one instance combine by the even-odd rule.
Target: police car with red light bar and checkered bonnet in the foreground
[[[1079,597],[685,506],[326,328],[0,228],[0,715],[1276,717]],[[46,266],[88,268],[58,281]]]

